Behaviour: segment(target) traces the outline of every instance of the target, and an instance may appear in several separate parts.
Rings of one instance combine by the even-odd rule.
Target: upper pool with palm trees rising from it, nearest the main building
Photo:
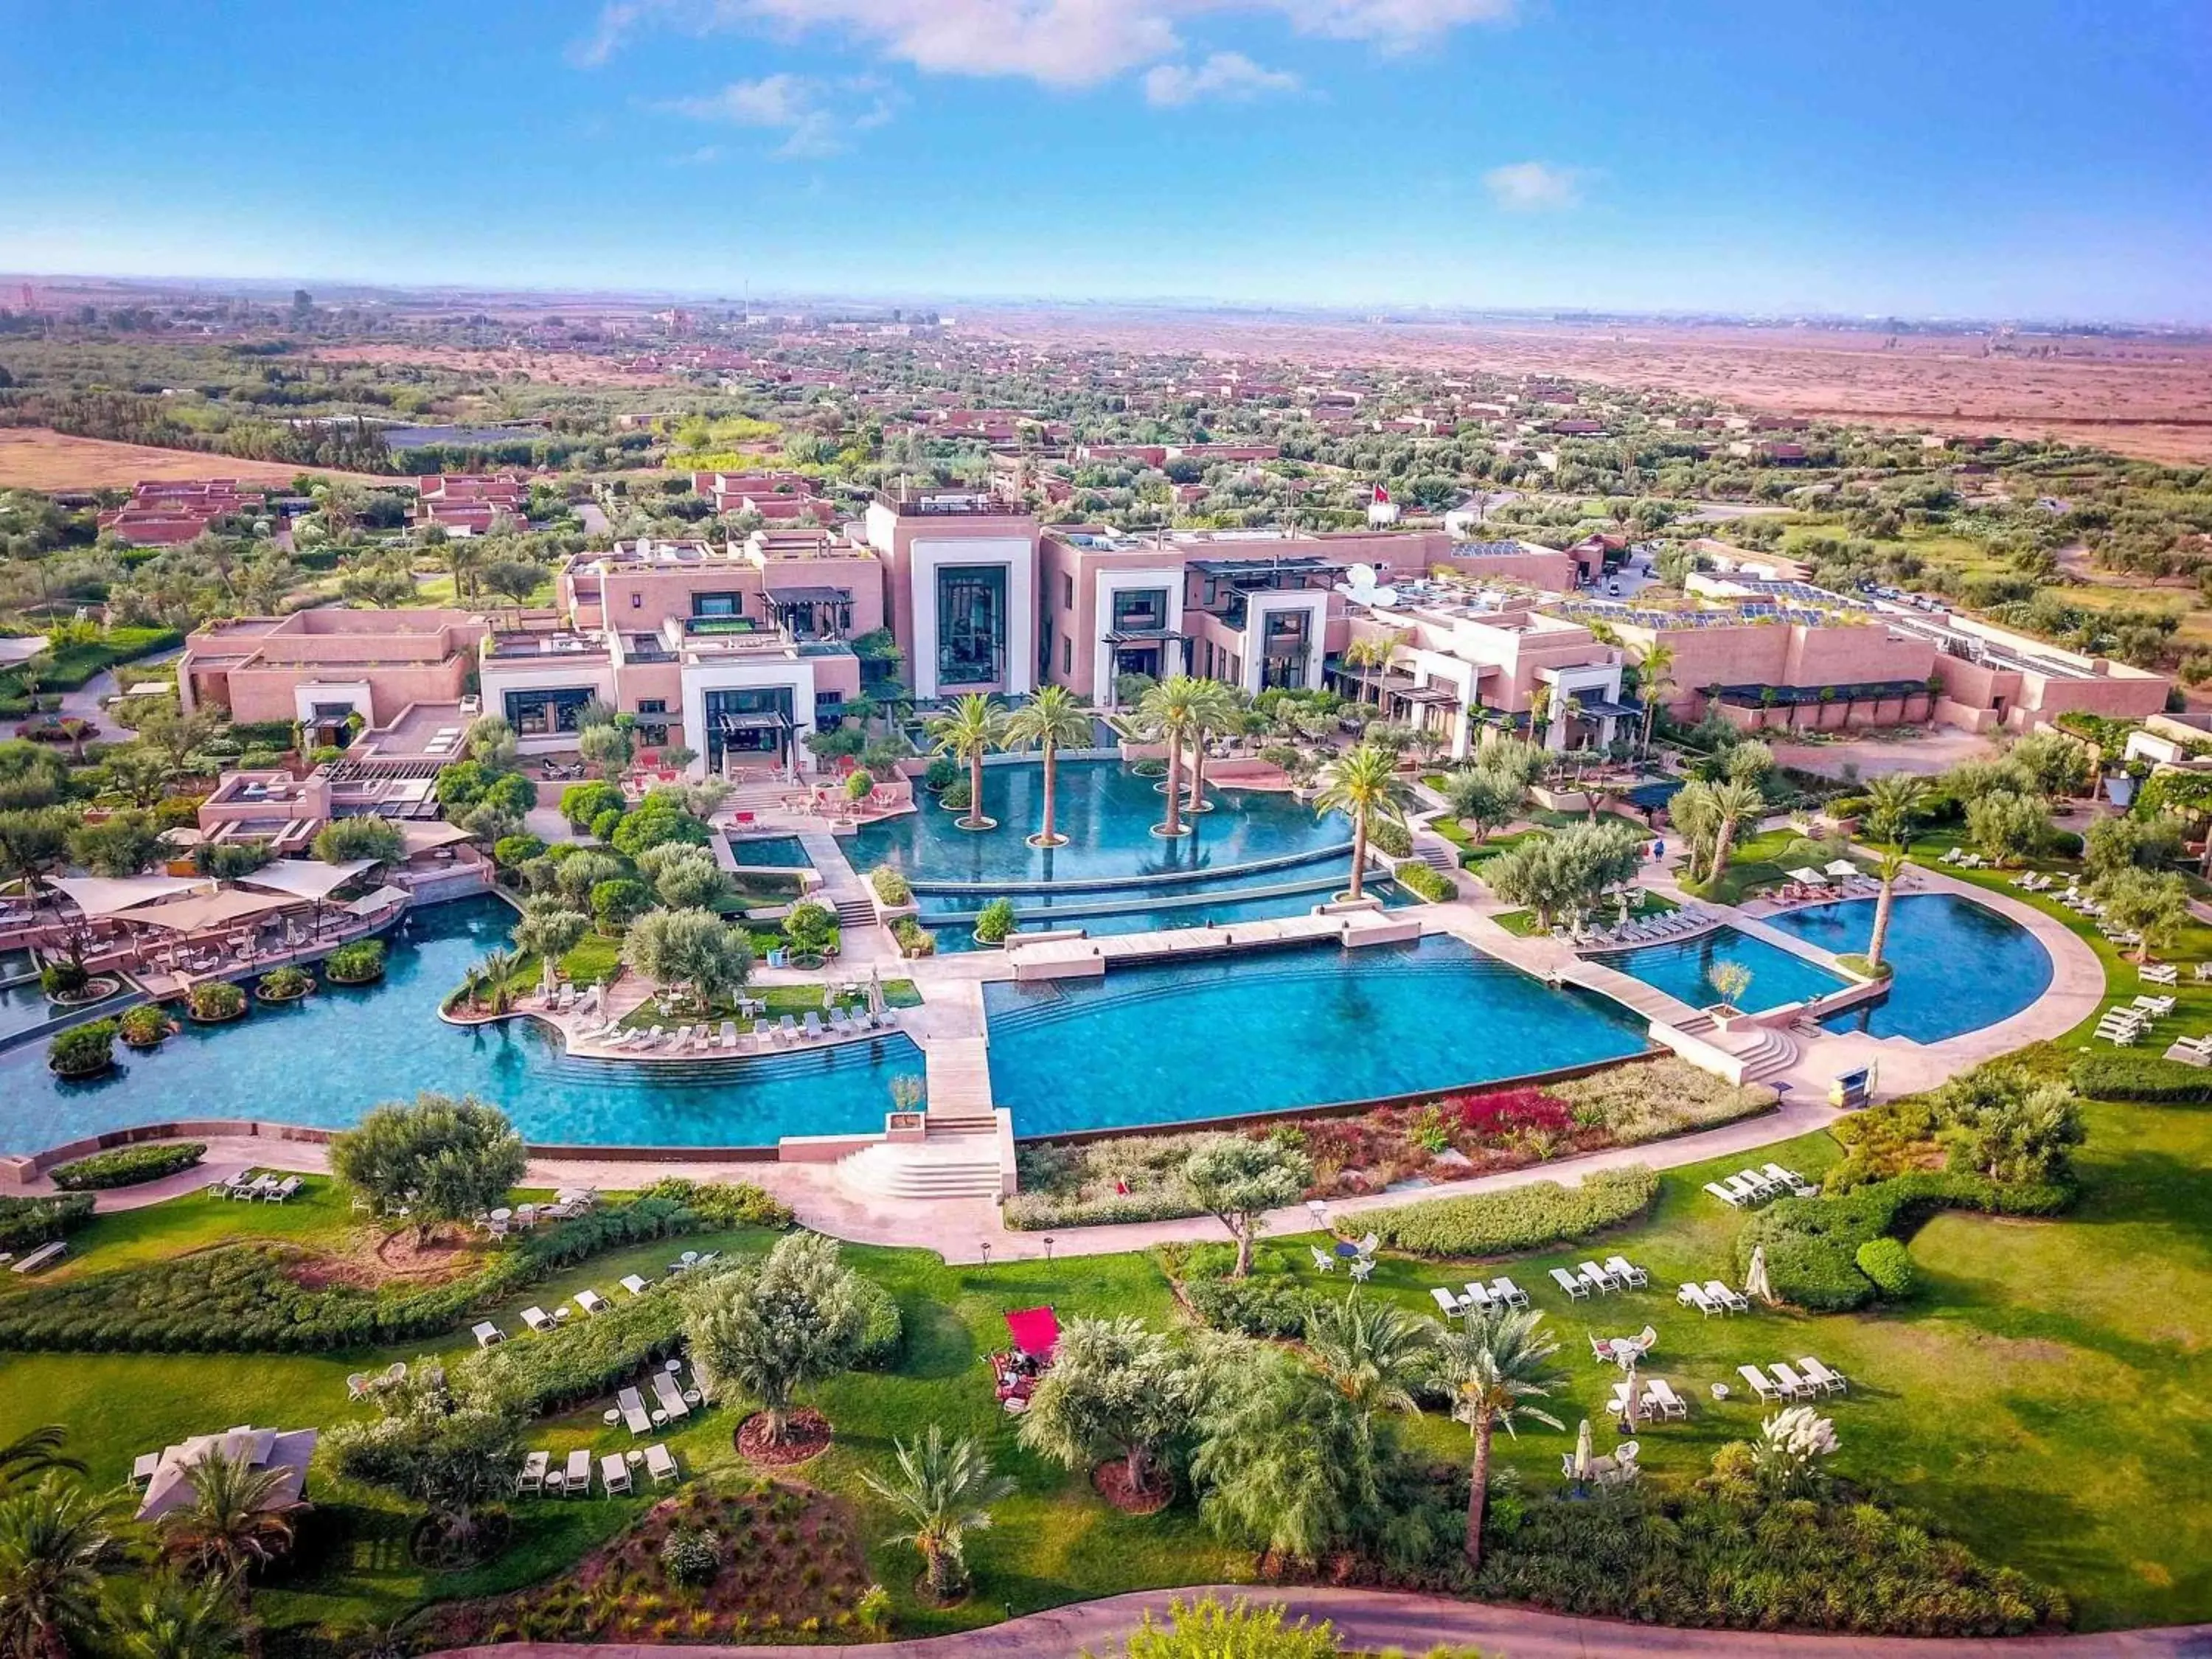
[[[993,891],[1009,883],[1082,883],[1128,876],[1203,876],[1267,858],[1305,858],[1352,845],[1340,814],[1316,816],[1287,794],[1217,790],[1212,812],[1190,818],[1192,834],[1161,841],[1166,816],[1159,779],[1137,776],[1119,761],[1062,761],[1055,799],[1066,847],[1040,852],[1024,836],[1044,810],[1044,768],[1033,763],[982,770],[984,814],[998,830],[956,830],[956,812],[922,796],[918,812],[863,825],[845,841],[854,869],[896,865],[916,883],[962,883]]]

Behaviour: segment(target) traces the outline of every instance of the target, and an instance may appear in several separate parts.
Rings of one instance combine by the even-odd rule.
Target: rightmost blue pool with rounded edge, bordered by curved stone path
[[[1770,927],[1794,933],[1823,951],[1865,951],[1874,938],[1871,898],[1794,909]],[[2011,1020],[2051,989],[2051,951],[2011,916],[1958,894],[1905,894],[1889,907],[1882,960],[1891,967],[1889,995],[1823,1024],[1829,1031],[1867,1031],[1876,1037],[1942,1042],[1962,1031]]]

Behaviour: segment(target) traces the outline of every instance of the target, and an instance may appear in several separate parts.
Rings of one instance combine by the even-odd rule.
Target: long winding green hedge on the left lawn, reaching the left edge
[[[690,1206],[641,1197],[524,1234],[467,1279],[383,1292],[307,1290],[292,1270],[310,1252],[230,1245],[0,1298],[0,1349],[303,1354],[422,1340],[586,1256],[701,1225]]]

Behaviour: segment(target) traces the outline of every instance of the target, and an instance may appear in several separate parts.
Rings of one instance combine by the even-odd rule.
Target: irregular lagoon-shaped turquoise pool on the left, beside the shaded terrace
[[[774,1146],[783,1135],[880,1130],[891,1077],[920,1073],[907,1037],[759,1060],[637,1066],[568,1060],[535,1022],[462,1031],[438,1002],[462,967],[507,942],[495,898],[431,905],[394,940],[376,987],[323,987],[234,1026],[186,1024],[150,1055],[117,1046],[88,1084],[46,1071],[42,1044],[0,1057],[0,1148],[179,1117],[265,1117],[343,1128],[420,1091],[473,1093],[549,1146]]]

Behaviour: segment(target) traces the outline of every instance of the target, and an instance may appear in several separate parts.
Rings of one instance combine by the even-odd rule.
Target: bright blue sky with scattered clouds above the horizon
[[[2208,0],[0,0],[0,270],[2212,321]]]

